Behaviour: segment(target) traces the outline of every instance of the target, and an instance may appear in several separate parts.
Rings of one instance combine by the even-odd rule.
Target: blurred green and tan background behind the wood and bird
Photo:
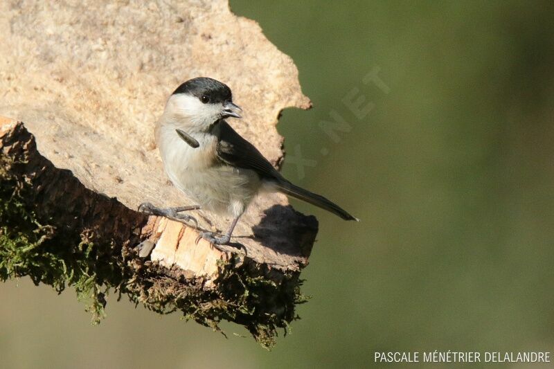
[[[284,172],[361,218],[320,221],[301,321],[272,352],[110,296],[0,285],[2,368],[363,368],[375,351],[554,351],[550,1],[231,1],[290,55],[314,109]],[[364,76],[375,67],[388,93]],[[353,89],[373,109],[343,103]],[[336,111],[339,142],[319,123]],[[298,171],[298,152],[310,165]],[[295,160],[296,159],[296,160]],[[435,364],[434,367],[441,367]]]

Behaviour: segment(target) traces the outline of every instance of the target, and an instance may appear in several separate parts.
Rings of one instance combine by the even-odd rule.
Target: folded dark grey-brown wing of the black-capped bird
[[[284,180],[254,145],[246,141],[225,120],[215,123],[212,133],[218,138],[217,157],[224,163],[250,169],[260,178]]]

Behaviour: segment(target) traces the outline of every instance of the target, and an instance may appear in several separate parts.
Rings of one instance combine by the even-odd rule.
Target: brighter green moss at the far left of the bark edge
[[[114,273],[102,270],[99,276],[101,253],[90,240],[93,232],[71,235],[37,220],[27,205],[35,195],[30,179],[10,174],[22,172],[17,167],[25,164],[9,157],[0,160],[0,280],[29,276],[35,285],[51,285],[58,293],[74,286],[98,323],[105,315],[105,286]]]

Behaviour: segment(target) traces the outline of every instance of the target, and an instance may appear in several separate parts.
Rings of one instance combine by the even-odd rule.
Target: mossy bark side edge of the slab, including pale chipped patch
[[[102,291],[115,288],[148,309],[179,309],[210,327],[217,327],[222,319],[234,321],[265,347],[274,345],[278,327],[288,327],[296,317],[294,307],[303,300],[300,269],[317,231],[313,217],[296,215],[295,220],[272,213],[282,210],[268,212],[277,220],[276,228],[265,228],[265,237],[283,237],[288,244],[296,240],[298,249],[288,255],[301,255],[299,264],[283,268],[271,262],[278,251],[287,253],[279,244],[266,255],[268,262],[248,255],[231,258],[205,241],[196,244],[193,228],[147,217],[86,188],[73,173],[55,168],[37,151],[34,137],[22,123],[0,122],[0,201],[7,206],[0,213],[0,235],[10,237],[6,244],[0,243],[1,258],[8,258],[1,260],[3,278],[30,276],[57,289],[75,284],[93,294],[95,321],[105,306]],[[274,232],[281,226],[279,219],[291,227],[291,233]],[[15,226],[14,232],[6,233],[7,224]],[[26,241],[36,238],[33,234],[44,225],[50,230],[44,242]],[[13,240],[19,249],[10,246]],[[139,258],[132,249],[145,241],[157,244],[154,262]]]

